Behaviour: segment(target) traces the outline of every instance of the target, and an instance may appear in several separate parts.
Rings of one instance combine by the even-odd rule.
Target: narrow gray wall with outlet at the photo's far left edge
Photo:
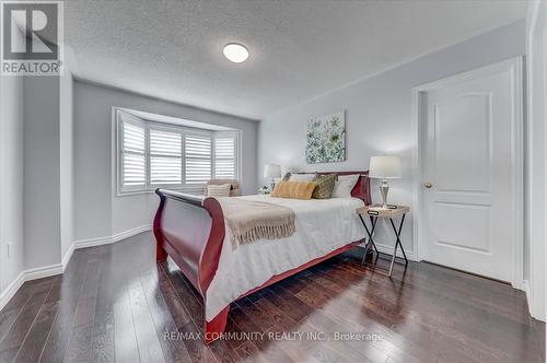
[[[23,79],[1,77],[0,295],[23,271]]]

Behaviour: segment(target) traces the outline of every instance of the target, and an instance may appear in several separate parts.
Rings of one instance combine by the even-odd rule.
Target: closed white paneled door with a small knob
[[[420,257],[513,280],[515,62],[438,82],[422,93]]]

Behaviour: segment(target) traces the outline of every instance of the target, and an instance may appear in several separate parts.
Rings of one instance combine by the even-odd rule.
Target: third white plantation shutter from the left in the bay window
[[[185,134],[185,183],[203,184],[211,179],[211,138]]]

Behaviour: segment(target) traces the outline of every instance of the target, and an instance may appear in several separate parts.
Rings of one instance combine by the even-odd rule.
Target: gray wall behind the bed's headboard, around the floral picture
[[[411,90],[452,74],[524,55],[525,22],[517,22],[421,57],[382,74],[266,117],[259,126],[258,176],[261,166],[279,163],[284,169],[366,169],[372,155],[399,154],[404,178],[391,182],[392,202],[411,204]],[[306,165],[305,125],[313,116],[346,109],[347,161]],[[266,180],[264,180],[266,183]],[[373,183],[373,200],[381,200]],[[411,216],[411,215],[410,215]],[[406,223],[403,244],[411,253],[412,221]],[[393,245],[393,232],[383,224],[376,241]],[[388,233],[388,235],[386,235]]]

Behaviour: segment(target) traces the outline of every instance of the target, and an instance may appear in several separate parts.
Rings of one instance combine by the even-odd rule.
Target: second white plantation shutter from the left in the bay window
[[[150,130],[150,184],[183,184],[181,132]]]

